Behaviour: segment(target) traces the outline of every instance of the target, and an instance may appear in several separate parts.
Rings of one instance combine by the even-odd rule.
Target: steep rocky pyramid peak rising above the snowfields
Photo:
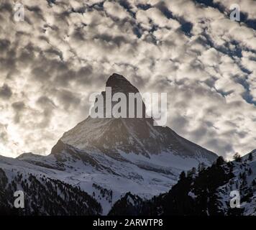
[[[129,80],[116,73],[106,81],[106,87],[111,87],[112,93],[139,93]],[[105,91],[102,94],[105,95]],[[144,102],[143,110],[145,111]],[[172,129],[153,126],[152,118],[93,119],[89,116],[65,132],[61,140],[85,151],[95,149],[109,157],[120,157],[121,153],[125,153],[150,158],[150,155],[170,153],[181,157],[194,157],[196,160],[202,158],[210,164],[216,159],[213,152],[183,139]]]

